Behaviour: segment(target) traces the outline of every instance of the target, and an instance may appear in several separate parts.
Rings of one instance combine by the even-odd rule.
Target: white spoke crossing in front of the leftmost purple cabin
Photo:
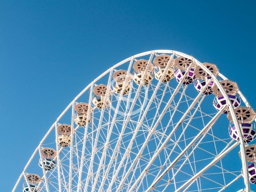
[[[171,59],[170,59],[171,60]],[[187,69],[187,71],[185,72],[185,75],[187,75],[189,73],[189,70],[192,68],[192,64],[190,65],[190,67]],[[183,79],[184,81],[184,79]],[[180,90],[181,86],[183,85],[183,81],[179,82],[179,85],[176,87],[176,89],[174,90],[174,93],[172,94],[171,98],[169,99],[169,101],[166,103],[165,109],[163,110],[163,112],[160,114],[159,118],[157,119],[154,127],[151,129],[150,133],[148,134],[146,141],[144,142],[143,146],[141,147],[141,149],[139,150],[137,156],[135,157],[132,165],[130,166],[130,168],[128,169],[128,173],[131,172],[131,169],[135,166],[137,160],[139,159],[139,156],[142,155],[148,141],[150,140],[150,138],[152,137],[152,135],[155,132],[155,129],[157,128],[158,124],[160,123],[161,119],[164,117],[166,110],[170,107],[172,101],[174,100],[174,97],[176,96],[176,94],[178,93],[178,91]],[[182,94],[183,95],[183,94]],[[152,123],[153,124],[153,123]],[[126,176],[121,179],[121,182],[119,183],[119,188],[117,189],[117,192],[120,191],[121,187],[123,186],[124,182],[126,181],[128,177],[128,174],[126,174]]]

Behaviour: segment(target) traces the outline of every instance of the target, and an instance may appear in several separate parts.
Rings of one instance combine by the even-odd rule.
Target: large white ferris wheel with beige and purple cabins
[[[74,98],[12,192],[250,192],[255,118],[215,64],[137,54]]]

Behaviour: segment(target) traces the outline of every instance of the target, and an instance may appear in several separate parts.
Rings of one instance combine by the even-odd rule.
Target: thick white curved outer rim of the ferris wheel
[[[186,54],[183,54],[181,52],[178,52],[178,51],[173,51],[173,50],[153,50],[153,51],[147,51],[147,52],[143,52],[143,53],[140,53],[140,54],[137,54],[137,55],[133,55],[133,56],[130,56],[128,57],[127,59],[119,62],[118,64],[115,64],[114,66],[112,66],[111,68],[109,68],[107,71],[105,71],[104,73],[102,73],[100,76],[98,76],[96,79],[94,79],[91,83],[89,83],[74,99],[73,101],[66,107],[66,109],[60,114],[60,116],[56,119],[56,121],[54,122],[54,124],[50,127],[50,129],[47,131],[46,135],[43,137],[43,139],[40,141],[39,145],[38,146],[41,146],[42,143],[46,140],[46,137],[49,135],[49,133],[52,131],[53,128],[55,128],[55,125],[56,123],[58,123],[58,121],[64,116],[64,114],[66,113],[67,110],[70,109],[70,107],[73,106],[73,103],[79,99],[82,94],[87,91],[91,85],[94,84],[94,82],[97,82],[98,80],[101,79],[101,77],[105,76],[106,74],[110,73],[111,70],[113,70],[114,68],[130,61],[132,58],[136,58],[136,57],[141,57],[141,56],[145,56],[145,55],[150,55],[150,54],[157,54],[157,53],[165,53],[165,54],[175,54],[175,55],[179,55],[179,56],[184,56],[186,58],[189,58],[189,59],[193,59],[197,65],[199,65],[203,70],[205,70],[208,74],[211,75],[212,79],[214,80],[214,82],[218,85],[218,88],[220,90],[220,92],[223,94],[224,98],[226,99],[229,107],[231,107],[233,110],[230,110],[230,113],[231,113],[231,116],[232,116],[232,119],[234,120],[234,125],[236,127],[238,127],[239,131],[238,131],[238,136],[240,138],[242,138],[242,130],[241,130],[241,127],[238,123],[238,119],[237,119],[237,116],[236,116],[236,113],[234,112],[234,107],[233,105],[231,104],[231,101],[229,100],[229,96],[227,94],[227,92],[224,90],[223,86],[220,84],[219,80],[217,79],[217,77],[215,77],[209,70],[208,68],[206,68],[201,62],[199,62],[198,60],[196,60],[194,57],[190,56],[190,55],[186,55]],[[219,77],[221,77],[223,80],[229,80],[228,78],[226,78],[223,74],[221,73],[218,73]],[[242,94],[242,92],[240,90],[238,90],[238,94],[240,95],[241,99],[244,101],[245,105],[247,107],[251,107],[251,105],[249,104],[249,102],[247,101],[247,99],[245,98],[245,96]],[[32,159],[34,158],[34,156],[36,155],[38,151],[38,147],[36,148],[36,150],[34,151],[34,153],[32,154],[32,156],[30,157],[30,159],[28,160],[27,162],[27,165],[24,167],[22,173],[20,174],[19,178],[18,178],[18,181],[16,182],[12,192],[15,192],[17,186],[18,186],[18,183],[20,182],[21,178],[23,177],[24,173],[26,172],[27,170],[27,167],[28,165],[30,164],[30,162],[32,161]],[[242,166],[243,166],[243,173],[247,173],[244,175],[244,182],[245,182],[245,192],[250,192],[250,184],[249,184],[249,175],[248,175],[248,166],[247,166],[247,157],[246,157],[246,153],[245,153],[245,143],[242,142],[242,139],[240,140],[240,151],[241,151],[241,160],[242,160]]]

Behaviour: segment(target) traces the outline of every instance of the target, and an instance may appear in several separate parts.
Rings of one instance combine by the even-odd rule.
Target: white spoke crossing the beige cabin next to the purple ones
[[[174,58],[174,55],[175,55],[175,53],[173,53],[173,55],[170,57],[168,63],[166,64],[166,67],[165,67],[165,70],[164,70],[163,74],[166,74],[166,73],[167,73],[168,67],[169,67],[170,64],[171,64],[171,61],[172,61],[172,59]],[[162,75],[162,77],[160,78],[159,82],[157,83],[156,88],[155,88],[155,91],[154,91],[154,93],[152,94],[150,101],[148,102],[148,105],[147,105],[147,107],[146,107],[146,110],[145,110],[145,112],[143,113],[142,118],[140,119],[139,123],[137,124],[137,126],[136,126],[136,128],[135,128],[135,133],[134,133],[133,137],[131,138],[131,140],[130,140],[130,142],[129,142],[128,149],[132,147],[133,141],[134,141],[134,139],[135,139],[135,137],[136,137],[136,135],[137,135],[137,132],[138,132],[138,128],[140,128],[140,126],[142,125],[143,120],[144,120],[144,118],[146,117],[146,112],[148,111],[148,109],[149,109],[151,103],[153,102],[153,100],[154,100],[154,98],[155,98],[155,95],[156,95],[156,92],[157,92],[158,88],[160,87],[160,84],[163,82],[164,78],[165,78],[165,75]],[[119,170],[120,170],[120,168],[121,168],[121,165],[122,165],[123,162],[125,161],[125,158],[126,158],[127,155],[128,155],[128,150],[126,150],[126,152],[125,152],[123,158],[121,159],[120,164],[119,164],[119,166],[118,166],[118,168],[117,168],[117,170],[116,170],[116,173],[114,174],[114,176],[113,176],[113,178],[112,178],[112,180],[111,180],[111,183],[110,183],[110,185],[109,185],[109,187],[108,187],[107,192],[110,192],[110,191],[111,191],[112,185],[113,185],[114,182],[116,181],[116,178],[117,178],[117,175],[118,175]]]

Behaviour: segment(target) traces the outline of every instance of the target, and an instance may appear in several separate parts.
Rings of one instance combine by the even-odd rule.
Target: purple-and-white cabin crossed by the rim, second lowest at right
[[[240,124],[240,126],[243,130],[243,137],[244,137],[245,143],[249,143],[256,138],[256,132],[253,129],[253,124],[242,123]],[[240,140],[240,138],[238,137],[237,128],[235,126],[229,128],[229,135],[231,138],[235,139],[236,141]]]

